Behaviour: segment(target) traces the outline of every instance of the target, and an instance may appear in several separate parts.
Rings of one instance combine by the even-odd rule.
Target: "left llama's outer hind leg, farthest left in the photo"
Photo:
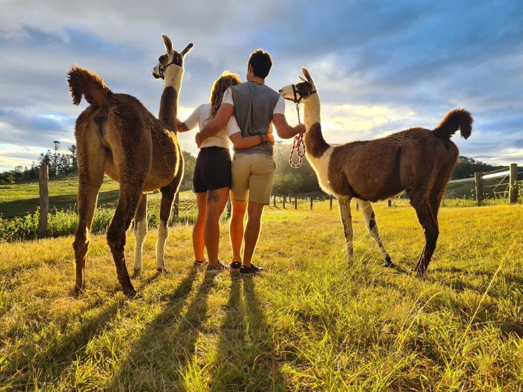
[[[89,248],[89,234],[98,191],[104,180],[106,160],[105,149],[96,141],[78,142],[78,226],[73,243],[76,260],[76,292],[85,287],[85,257]]]

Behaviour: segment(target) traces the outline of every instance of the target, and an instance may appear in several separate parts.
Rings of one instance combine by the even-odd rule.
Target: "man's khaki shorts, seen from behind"
[[[266,154],[234,154],[232,158],[232,200],[269,204],[276,163]]]

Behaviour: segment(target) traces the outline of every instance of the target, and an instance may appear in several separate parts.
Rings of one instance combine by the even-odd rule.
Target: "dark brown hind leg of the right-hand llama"
[[[410,195],[410,197],[411,204],[414,210],[416,210],[418,221],[422,225],[425,234],[425,247],[414,268],[418,276],[423,276],[428,268],[434,249],[436,249],[439,236],[438,222],[431,211],[430,200],[426,195],[414,194]]]

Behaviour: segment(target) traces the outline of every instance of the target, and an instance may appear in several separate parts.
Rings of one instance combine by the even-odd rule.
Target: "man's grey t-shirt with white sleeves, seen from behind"
[[[222,103],[234,106],[234,117],[242,130],[242,136],[267,133],[272,114],[285,114],[285,101],[275,90],[256,82],[245,82],[229,87]],[[258,144],[251,148],[234,148],[242,154],[266,154],[272,156],[272,144]]]

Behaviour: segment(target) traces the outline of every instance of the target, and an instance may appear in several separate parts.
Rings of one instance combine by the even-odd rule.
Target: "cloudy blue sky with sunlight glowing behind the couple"
[[[100,74],[157,114],[161,80],[152,68],[161,34],[185,59],[183,121],[207,102],[223,70],[245,80],[249,54],[269,51],[266,80],[297,82],[306,66],[321,96],[329,143],[369,140],[411,126],[433,129],[454,107],[471,111],[460,154],[492,164],[523,163],[523,2],[513,1],[170,1],[2,0],[0,170],[30,165],[61,142],[74,143],[65,72]],[[287,118],[297,123],[292,102]],[[181,146],[197,152],[194,132]]]

